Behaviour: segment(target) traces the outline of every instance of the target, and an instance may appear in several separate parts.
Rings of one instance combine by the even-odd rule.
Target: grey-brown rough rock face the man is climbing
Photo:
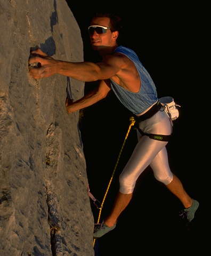
[[[0,255],[94,255],[79,114],[64,105],[84,83],[28,75],[37,46],[83,61],[77,22],[64,0],[0,0],[0,23]]]

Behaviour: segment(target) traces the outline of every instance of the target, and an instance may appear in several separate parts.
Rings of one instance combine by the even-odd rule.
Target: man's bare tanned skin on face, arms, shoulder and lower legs
[[[91,25],[110,27],[110,19],[106,17],[93,18]],[[141,88],[141,80],[133,62],[124,54],[113,53],[118,46],[117,38],[118,31],[111,31],[110,29],[104,34],[98,34],[95,31],[94,34],[90,36],[93,49],[99,51],[102,55],[102,62],[99,63],[72,63],[55,60],[38,49],[31,52],[36,56],[29,59],[29,64],[39,62],[41,67],[30,68],[29,73],[35,79],[60,74],[84,82],[99,80],[99,87],[97,90],[86,94],[82,99],[75,102],[70,102],[68,99],[66,100],[66,109],[68,113],[91,106],[105,98],[111,90],[109,79],[112,79],[126,90],[139,92]],[[186,194],[182,183],[175,177],[175,175],[172,182],[167,185],[167,188],[180,199],[184,207],[191,206],[192,199]],[[118,193],[111,213],[104,220],[107,226],[113,226],[117,222],[120,213],[131,201],[132,195],[133,194]]]

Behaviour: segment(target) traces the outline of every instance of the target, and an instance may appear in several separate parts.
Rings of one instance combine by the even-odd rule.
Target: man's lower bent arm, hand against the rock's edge
[[[98,89],[87,93],[83,98],[75,101],[74,103],[66,103],[68,113],[72,113],[79,109],[93,105],[94,103],[105,98],[110,90],[111,89],[108,81],[100,81]]]

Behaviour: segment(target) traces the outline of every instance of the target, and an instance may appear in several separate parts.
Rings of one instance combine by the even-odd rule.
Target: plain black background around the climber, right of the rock
[[[95,255],[181,255],[205,250],[206,236],[202,225],[202,191],[206,177],[204,127],[200,105],[200,47],[197,21],[198,6],[153,3],[130,6],[99,7],[95,3],[76,4],[67,1],[80,27],[84,42],[84,59],[95,58],[89,44],[87,26],[95,11],[114,11],[124,20],[123,45],[131,47],[149,71],[158,97],[172,96],[181,105],[180,117],[167,145],[169,165],[181,179],[188,194],[200,202],[200,209],[188,230],[178,218],[182,205],[166,187],[153,178],[150,168],[136,182],[134,196],[120,215],[117,227],[98,239]],[[99,3],[98,3],[99,4]],[[128,5],[128,4],[127,4]],[[94,56],[94,58],[93,58]],[[86,83],[85,93],[95,86]],[[105,189],[123,144],[131,113],[115,98],[107,98],[86,108],[80,120],[87,175],[91,192],[102,201]],[[101,220],[111,209],[118,191],[118,176],[132,154],[136,132],[132,130],[121,155],[102,210]],[[95,222],[99,211],[92,204]],[[206,218],[205,218],[206,219]],[[204,220],[205,220],[204,219]],[[205,224],[206,225],[206,224]]]

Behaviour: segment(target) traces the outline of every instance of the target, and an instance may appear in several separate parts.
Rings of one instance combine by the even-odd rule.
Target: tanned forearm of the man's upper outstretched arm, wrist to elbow
[[[74,63],[57,60],[56,73],[64,76],[70,76],[84,82],[97,81],[101,78],[99,75],[100,68],[92,62]]]

